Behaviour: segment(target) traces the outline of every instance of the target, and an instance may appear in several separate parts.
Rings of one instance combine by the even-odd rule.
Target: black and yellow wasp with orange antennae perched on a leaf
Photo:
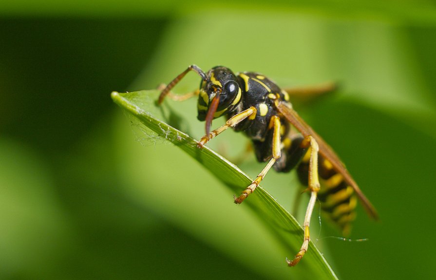
[[[172,94],[171,89],[190,71],[201,77],[200,88],[185,95]],[[307,251],[310,218],[317,198],[323,212],[344,234],[350,231],[356,217],[358,199],[371,217],[378,218],[333,149],[292,108],[291,92],[326,92],[334,88],[332,84],[323,88],[281,89],[257,72],[234,73],[224,66],[204,72],[191,65],[162,90],[158,99],[161,104],[166,96],[185,100],[198,95],[197,118],[206,122],[206,134],[198,141],[198,148],[229,127],[242,131],[251,140],[257,160],[267,163],[256,179],[234,197],[236,204],[255,191],[271,167],[277,172],[297,169],[299,180],[310,191],[310,199],[304,217],[303,244],[293,260],[286,258],[289,266],[300,262]],[[227,122],[211,131],[212,120],[221,116],[226,116]]]

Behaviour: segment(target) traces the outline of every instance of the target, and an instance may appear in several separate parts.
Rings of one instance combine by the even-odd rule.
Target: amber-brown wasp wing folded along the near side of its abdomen
[[[321,136],[313,131],[313,129],[307,123],[305,123],[303,119],[298,115],[298,113],[294,111],[289,105],[289,103],[281,101],[276,101],[275,103],[277,110],[284,116],[284,118],[289,123],[291,123],[298,131],[300,131],[303,137],[307,137],[310,135],[318,142],[318,145],[320,147],[320,155],[330,161],[334,170],[340,173],[345,181],[354,189],[360,199],[360,202],[362,203],[368,214],[372,218],[378,219],[379,215],[377,214],[376,209],[360,190],[353,177],[351,177],[351,175],[348,173],[347,169],[341,162],[341,159],[339,159],[333,149],[321,138]]]

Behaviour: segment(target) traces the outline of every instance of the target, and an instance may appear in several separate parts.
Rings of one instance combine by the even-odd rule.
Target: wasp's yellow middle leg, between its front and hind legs
[[[256,179],[241,193],[240,196],[235,196],[235,203],[240,204],[247,198],[250,193],[259,186],[260,182],[265,178],[266,173],[274,165],[274,163],[281,157],[281,139],[280,139],[280,118],[278,116],[272,116],[269,123],[269,127],[273,129],[272,137],[272,158],[268,161],[265,168],[259,173]]]

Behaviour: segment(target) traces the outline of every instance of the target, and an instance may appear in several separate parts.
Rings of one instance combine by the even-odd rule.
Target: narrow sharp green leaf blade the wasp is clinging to
[[[130,93],[113,92],[112,99],[116,104],[120,105],[129,114],[132,114],[152,130],[158,137],[172,142],[188,153],[230,188],[232,192],[240,193],[244,190],[251,183],[252,179],[236,165],[207,146],[202,149],[197,148],[196,140],[160,120],[168,120],[167,122],[175,126],[183,123],[183,120],[177,113],[171,111],[166,104],[159,107],[155,105],[158,94],[159,92],[156,90]],[[171,199],[177,199],[177,197],[171,197]],[[230,200],[228,203],[231,203]],[[269,230],[269,234],[288,252],[288,257],[292,259],[293,255],[299,251],[303,242],[303,228],[295,218],[261,186],[244,201],[241,207],[245,206],[251,208],[257,217],[264,222],[264,227]],[[243,209],[240,210],[242,211]],[[183,209],[180,209],[180,211],[183,211]],[[256,246],[256,244],[247,243],[246,246]],[[236,248],[233,249],[237,250]],[[262,256],[257,258],[262,258]],[[337,279],[329,264],[312,242],[309,244],[308,252],[297,267],[286,269],[288,269],[290,275],[304,279]]]

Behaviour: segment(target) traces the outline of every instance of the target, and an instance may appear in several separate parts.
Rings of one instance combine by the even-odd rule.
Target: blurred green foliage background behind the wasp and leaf
[[[343,242],[315,215],[312,239],[340,279],[434,278],[435,50],[430,0],[1,1],[0,279],[310,279],[232,192],[110,99],[192,63],[341,81],[297,109],[381,220],[360,208],[351,238],[369,241]],[[173,107],[198,139],[195,101]],[[222,139],[211,146],[229,158],[245,143]],[[292,209],[293,174],[262,185]]]

